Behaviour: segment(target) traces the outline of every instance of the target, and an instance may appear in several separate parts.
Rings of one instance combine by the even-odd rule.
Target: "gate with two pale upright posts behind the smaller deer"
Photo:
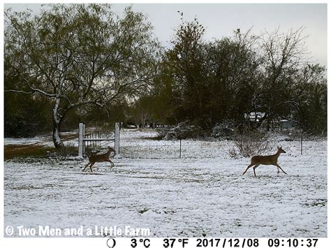
[[[112,141],[115,143],[115,155],[119,154],[119,122],[115,123],[114,136],[112,132],[94,131],[85,133],[85,124],[80,123],[78,133],[78,156],[82,158],[85,154],[85,147],[87,145],[94,145],[102,141]]]

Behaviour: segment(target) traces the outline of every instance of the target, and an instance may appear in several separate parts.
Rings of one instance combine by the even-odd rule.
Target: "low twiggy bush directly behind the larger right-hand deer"
[[[233,140],[242,156],[255,156],[270,150],[270,138],[262,131],[249,131],[238,134]],[[233,153],[233,151],[232,151]]]

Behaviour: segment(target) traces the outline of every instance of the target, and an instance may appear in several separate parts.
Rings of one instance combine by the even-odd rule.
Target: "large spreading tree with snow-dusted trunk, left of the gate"
[[[63,147],[66,113],[85,105],[139,94],[154,76],[159,44],[141,13],[123,17],[107,4],[56,4],[39,15],[5,12],[6,92],[41,94],[52,101],[53,141]]]

